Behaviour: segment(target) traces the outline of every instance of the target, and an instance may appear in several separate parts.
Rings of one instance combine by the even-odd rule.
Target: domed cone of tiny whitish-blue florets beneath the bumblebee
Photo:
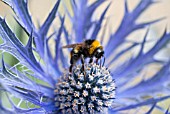
[[[96,114],[111,107],[115,82],[107,68],[92,63],[85,65],[84,72],[80,66],[73,73],[66,72],[58,79],[54,92],[59,112]]]

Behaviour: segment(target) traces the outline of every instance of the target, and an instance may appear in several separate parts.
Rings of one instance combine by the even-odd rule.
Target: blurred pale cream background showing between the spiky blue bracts
[[[68,7],[71,14],[73,15],[69,3],[66,2],[68,0],[63,0],[62,4],[64,4],[64,1],[66,4],[66,7]],[[89,0],[89,1],[93,2],[94,0]],[[112,2],[112,5],[110,6],[110,9],[109,9],[106,17],[108,17],[108,21],[110,22],[109,27],[111,28],[111,31],[115,32],[117,27],[119,26],[122,16],[123,16],[124,0],[108,0],[108,2],[110,2],[110,1]],[[166,17],[166,19],[164,19],[150,27],[152,29],[152,31],[151,31],[152,33],[150,35],[154,36],[155,39],[158,39],[162,35],[165,27],[167,27],[167,31],[170,32],[170,0],[159,0],[159,1],[161,1],[161,2],[152,5],[138,19],[138,22],[145,22],[145,21],[155,20],[155,19],[158,19],[161,17]],[[43,23],[43,21],[46,19],[47,15],[53,8],[55,2],[56,2],[56,0],[29,0],[30,14],[32,15],[32,19],[33,19],[33,22],[35,23],[36,27],[38,27],[39,24],[41,25]],[[96,14],[93,18],[94,20],[98,19],[98,13],[101,12],[101,10],[103,11],[103,8],[106,7],[108,2],[106,2],[104,5],[102,5],[96,11]],[[129,10],[130,11],[133,10],[133,8],[137,5],[138,2],[139,2],[139,0],[128,0]],[[64,9],[63,7],[60,7],[60,12],[63,12],[63,9]],[[17,32],[17,24],[14,21],[14,19],[12,18],[12,15],[14,15],[14,13],[7,5],[5,5],[1,1],[0,1],[0,15],[2,17],[6,18],[7,22],[9,23],[9,25],[11,26],[13,31],[16,33]],[[65,23],[65,25],[69,29],[71,29],[71,25],[69,24],[69,19],[66,18],[66,20],[67,20],[67,22]],[[56,18],[54,25],[51,27],[51,31],[53,31],[53,28],[59,26],[57,21],[58,21],[58,19]],[[135,41],[137,38],[137,41],[142,41],[142,38],[143,38],[142,34],[144,32],[145,31],[138,31],[137,33],[131,34],[128,38],[130,40],[135,40]],[[25,38],[25,40],[23,40],[23,43],[26,43],[28,38],[26,36],[24,38]],[[154,39],[152,39],[152,40],[154,40]],[[107,39],[104,41],[104,43],[105,44],[107,43]],[[51,45],[53,45],[53,44],[54,44],[54,42],[51,41]],[[148,49],[153,44],[149,44]],[[53,50],[53,48],[54,47],[51,46],[52,50]],[[134,51],[136,51],[136,50],[134,50]],[[147,49],[146,49],[146,51],[147,51]],[[170,45],[169,45],[169,47],[167,47],[167,49],[165,49],[164,51],[159,53],[157,58],[168,60],[170,58]],[[109,60],[107,62],[109,62]],[[112,67],[114,67],[114,65]],[[160,69],[160,67],[154,66],[152,68],[152,70],[153,69],[156,71],[156,70]],[[161,103],[161,105],[164,107],[168,107],[167,104],[169,105],[168,101]],[[134,112],[131,111],[128,113],[131,114]],[[142,111],[141,111],[141,113],[142,113]],[[162,114],[162,113],[160,113],[158,111],[158,112],[156,112],[156,114]]]

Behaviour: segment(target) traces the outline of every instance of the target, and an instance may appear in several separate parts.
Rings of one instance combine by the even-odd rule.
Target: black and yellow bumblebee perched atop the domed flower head
[[[93,58],[96,58],[96,64],[98,64],[98,60],[101,57],[104,57],[103,46],[101,46],[100,42],[97,40],[85,40],[82,43],[70,44],[63,46],[63,48],[73,48],[70,52],[71,60],[70,60],[70,68],[69,71],[72,72],[73,66],[76,62],[81,59],[82,70],[84,71],[84,60],[86,58],[90,58],[89,63],[93,62]],[[105,61],[105,58],[104,58]],[[104,63],[103,63],[104,64]]]

